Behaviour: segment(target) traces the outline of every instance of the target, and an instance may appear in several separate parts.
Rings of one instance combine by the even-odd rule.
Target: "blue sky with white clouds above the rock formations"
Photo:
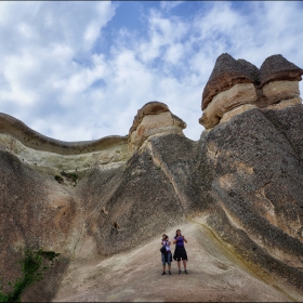
[[[127,135],[159,101],[196,141],[218,56],[303,68],[302,16],[301,1],[0,1],[0,111],[75,142]]]

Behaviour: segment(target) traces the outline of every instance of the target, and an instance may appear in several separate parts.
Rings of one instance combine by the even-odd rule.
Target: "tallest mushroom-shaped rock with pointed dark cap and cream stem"
[[[239,106],[254,105],[258,98],[254,83],[259,83],[259,69],[253,64],[222,54],[216,60],[203,91],[203,115],[199,123],[210,129],[220,123],[225,113]],[[241,110],[249,108],[251,106],[245,106]],[[241,110],[233,113],[236,115]],[[232,117],[232,114],[228,117]]]

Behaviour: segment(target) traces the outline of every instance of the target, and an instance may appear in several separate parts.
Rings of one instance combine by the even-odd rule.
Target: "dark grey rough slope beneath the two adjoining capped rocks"
[[[205,140],[213,166],[210,192],[222,205],[222,212],[209,224],[247,260],[299,286],[303,280],[299,261],[303,171],[298,145],[302,118],[291,118],[297,111],[295,117],[303,114],[301,104],[265,115],[255,108],[219,124]],[[300,139],[294,141],[294,133]],[[295,262],[300,265],[290,265]]]

